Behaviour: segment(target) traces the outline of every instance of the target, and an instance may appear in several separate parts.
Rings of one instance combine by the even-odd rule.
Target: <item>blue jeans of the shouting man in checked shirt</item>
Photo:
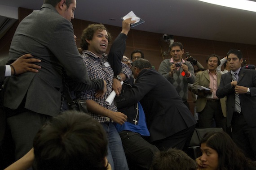
[[[108,155],[107,160],[109,161],[113,170],[129,170],[122,140],[117,132],[113,123],[101,123],[102,127],[107,133],[108,138]]]

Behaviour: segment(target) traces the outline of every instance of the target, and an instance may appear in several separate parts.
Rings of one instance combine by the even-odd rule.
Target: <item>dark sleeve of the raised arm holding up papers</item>
[[[126,47],[126,39],[127,35],[120,33],[115,38],[108,54],[108,61],[114,71],[114,76],[118,75],[122,69],[121,61]]]

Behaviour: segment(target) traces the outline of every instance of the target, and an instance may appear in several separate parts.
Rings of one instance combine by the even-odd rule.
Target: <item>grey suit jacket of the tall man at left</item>
[[[29,53],[41,59],[38,73],[10,76],[4,85],[4,106],[17,109],[25,98],[25,108],[44,115],[57,115],[61,106],[62,68],[87,89],[103,89],[103,81],[91,81],[74,40],[70,21],[50,4],[43,4],[24,18],[9,50],[8,63]]]

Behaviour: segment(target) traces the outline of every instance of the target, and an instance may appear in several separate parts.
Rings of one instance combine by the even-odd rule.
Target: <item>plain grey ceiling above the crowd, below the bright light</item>
[[[0,4],[40,9],[43,0]],[[120,17],[130,11],[145,21],[135,30],[256,45],[256,13],[198,0],[77,0],[75,18],[121,26]]]

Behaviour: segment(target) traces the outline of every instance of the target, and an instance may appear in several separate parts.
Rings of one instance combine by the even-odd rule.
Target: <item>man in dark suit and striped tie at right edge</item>
[[[239,50],[228,52],[228,63],[230,71],[221,76],[216,95],[227,96],[226,123],[231,126],[234,142],[247,157],[256,160],[256,71],[241,68],[243,55]],[[237,75],[232,80],[234,72]]]

